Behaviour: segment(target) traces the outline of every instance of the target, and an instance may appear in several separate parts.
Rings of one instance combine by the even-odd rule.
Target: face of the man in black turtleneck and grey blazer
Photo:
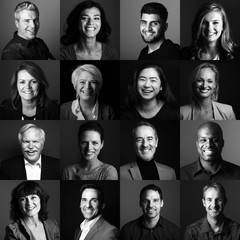
[[[158,146],[155,132],[150,126],[139,126],[135,131],[135,151],[143,161],[151,161]]]

